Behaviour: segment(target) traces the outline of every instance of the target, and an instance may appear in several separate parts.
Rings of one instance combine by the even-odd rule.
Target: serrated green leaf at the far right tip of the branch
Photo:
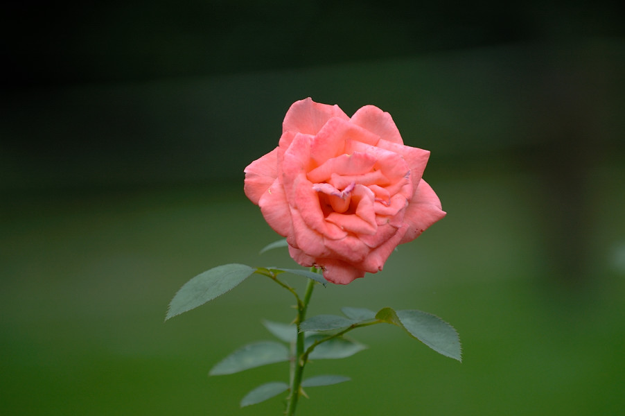
[[[378,311],[376,318],[405,329],[411,336],[439,354],[462,361],[458,333],[438,316],[422,311],[395,312],[391,308],[384,308]]]

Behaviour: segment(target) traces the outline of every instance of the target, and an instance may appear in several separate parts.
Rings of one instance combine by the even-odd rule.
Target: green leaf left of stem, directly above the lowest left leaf
[[[245,345],[217,363],[209,376],[233,374],[261,365],[288,361],[289,351],[285,345],[274,341],[260,341]]]

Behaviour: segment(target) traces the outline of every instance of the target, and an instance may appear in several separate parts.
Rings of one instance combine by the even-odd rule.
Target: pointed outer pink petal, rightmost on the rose
[[[408,204],[404,215],[404,223],[408,226],[400,244],[416,239],[430,225],[446,216],[442,210],[441,200],[430,185],[421,180],[419,187]]]

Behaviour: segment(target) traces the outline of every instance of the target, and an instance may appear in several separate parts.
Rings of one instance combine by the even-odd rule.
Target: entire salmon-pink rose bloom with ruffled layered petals
[[[382,270],[398,244],[445,212],[421,179],[430,152],[405,146],[390,114],[351,117],[312,99],[291,105],[279,145],[245,168],[245,195],[301,266],[335,284]]]

